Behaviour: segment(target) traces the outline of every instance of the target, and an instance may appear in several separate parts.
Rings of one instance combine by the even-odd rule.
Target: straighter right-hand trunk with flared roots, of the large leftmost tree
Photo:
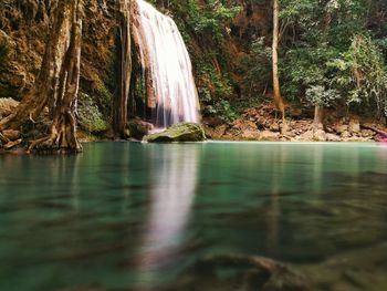
[[[63,1],[70,8],[70,43],[61,65],[55,90],[50,135],[32,142],[29,150],[43,153],[79,153],[75,108],[80,85],[83,0]],[[60,11],[61,13],[61,11]],[[52,96],[53,97],[53,96]]]

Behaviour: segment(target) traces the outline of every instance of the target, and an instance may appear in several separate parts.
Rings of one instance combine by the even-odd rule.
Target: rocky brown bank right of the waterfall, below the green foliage
[[[316,125],[313,114],[289,108],[285,127],[271,103],[244,110],[231,124],[205,119],[208,138],[254,142],[383,142],[387,127],[373,118],[331,112]]]

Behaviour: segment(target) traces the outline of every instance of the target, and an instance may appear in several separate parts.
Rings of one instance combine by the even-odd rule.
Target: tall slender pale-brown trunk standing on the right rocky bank
[[[285,104],[281,95],[280,76],[279,76],[279,33],[280,33],[280,6],[279,0],[273,0],[273,98],[274,105],[282,114],[283,126],[285,126]]]

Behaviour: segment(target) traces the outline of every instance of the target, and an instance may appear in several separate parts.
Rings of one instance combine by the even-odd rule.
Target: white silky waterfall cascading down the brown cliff
[[[156,127],[199,122],[192,65],[175,21],[144,0],[134,1],[133,35],[139,49],[147,106]]]

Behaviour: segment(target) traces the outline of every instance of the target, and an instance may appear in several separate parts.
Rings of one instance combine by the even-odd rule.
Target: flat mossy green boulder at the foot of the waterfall
[[[205,139],[203,128],[196,123],[175,124],[161,133],[145,137],[148,143],[203,142]]]

